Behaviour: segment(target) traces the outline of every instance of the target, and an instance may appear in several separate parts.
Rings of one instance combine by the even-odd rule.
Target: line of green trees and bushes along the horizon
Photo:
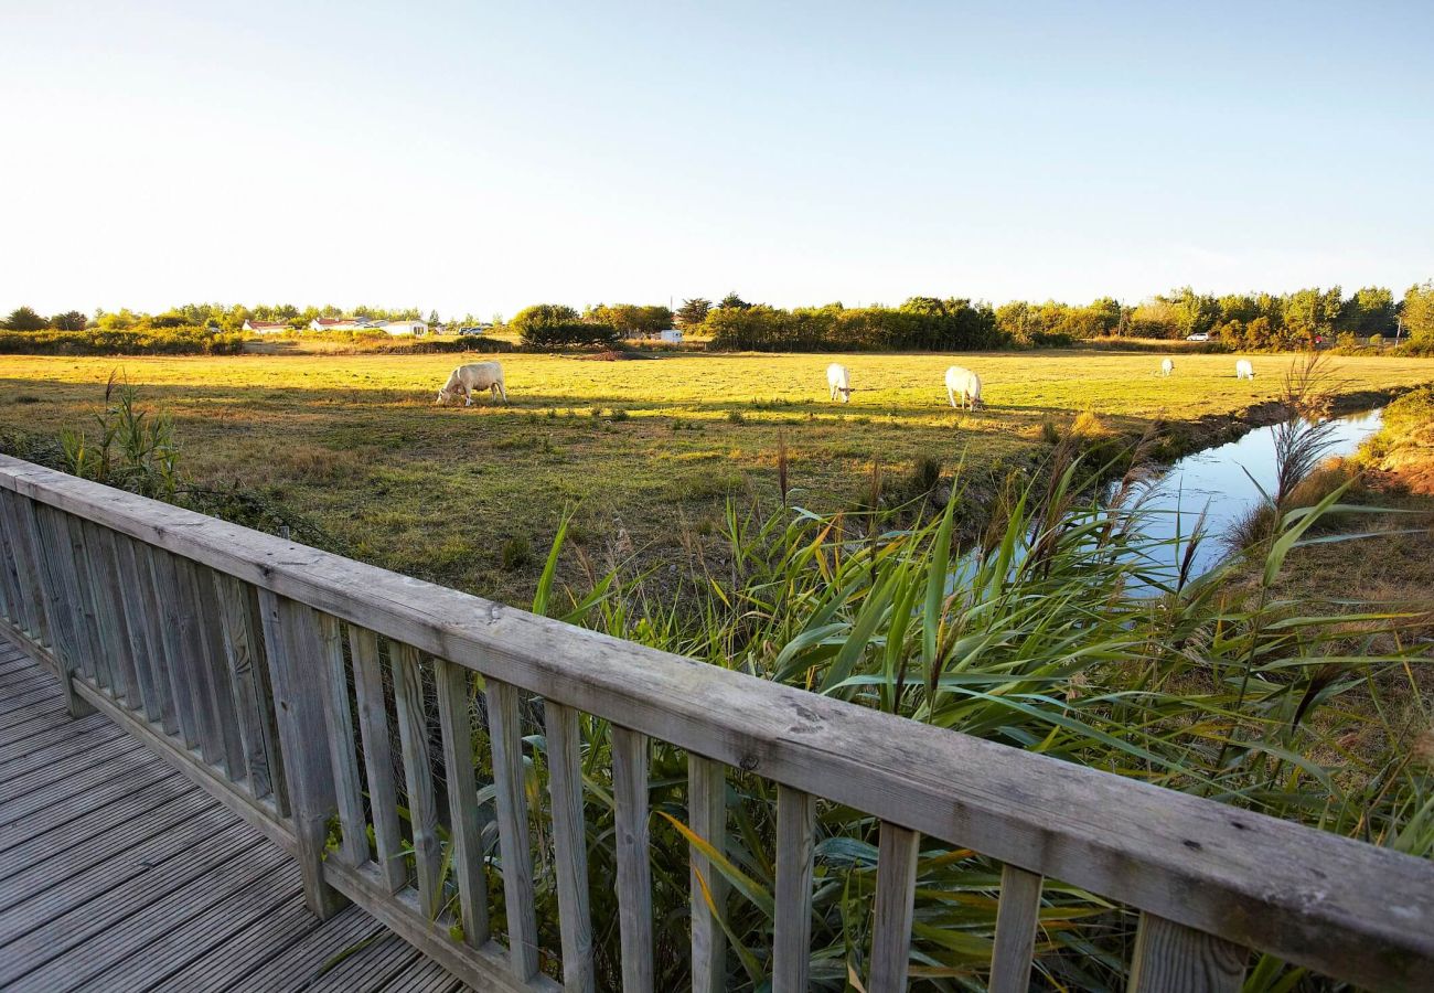
[[[159,314],[70,310],[44,317],[20,307],[0,321],[10,331],[159,333],[176,329],[238,333],[245,320],[284,321],[295,330],[315,317],[417,320],[417,309],[295,307],[293,304],[184,304]],[[437,313],[429,314],[439,324]],[[455,323],[476,324],[473,314]],[[495,319],[502,324],[502,319]],[[1293,293],[1215,296],[1182,287],[1139,304],[1100,297],[1088,304],[1011,301],[994,307],[961,297],[909,297],[901,306],[773,307],[736,293],[713,303],[684,300],[677,310],[645,304],[595,304],[581,313],[566,304],[535,304],[508,327],[529,347],[604,346],[670,327],[708,339],[716,349],[751,352],[942,350],[1061,346],[1096,337],[1186,339],[1207,336],[1230,349],[1302,349],[1319,343],[1365,344],[1371,339],[1434,349],[1434,281],[1395,298],[1385,287],[1344,294],[1341,287]]]

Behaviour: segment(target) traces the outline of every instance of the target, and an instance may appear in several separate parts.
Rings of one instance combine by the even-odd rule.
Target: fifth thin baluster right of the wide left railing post
[[[488,680],[488,732],[493,745],[493,785],[498,788],[498,845],[503,857],[503,905],[508,910],[508,956],[513,974],[529,980],[538,973],[538,917],[533,900],[533,860],[528,844],[528,799],[523,792],[523,732],[518,720],[518,690]]]

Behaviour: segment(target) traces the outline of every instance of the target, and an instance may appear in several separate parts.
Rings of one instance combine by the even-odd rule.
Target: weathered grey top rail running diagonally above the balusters
[[[759,680],[0,456],[0,486],[546,699],[1362,986],[1434,969],[1434,864]]]

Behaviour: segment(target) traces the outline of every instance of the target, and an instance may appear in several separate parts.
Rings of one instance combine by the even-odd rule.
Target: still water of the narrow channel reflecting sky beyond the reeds
[[[1332,445],[1326,458],[1354,453],[1364,439],[1380,430],[1382,422],[1382,410],[1338,418],[1329,435]],[[1149,538],[1172,541],[1160,545],[1160,554],[1170,557],[1166,564],[1173,570],[1184,554],[1183,537],[1190,534],[1203,509],[1206,534],[1195,551],[1193,578],[1209,571],[1226,554],[1222,538],[1262,499],[1259,488],[1265,492],[1275,489],[1273,426],[1256,428],[1239,441],[1187,455],[1170,466],[1150,488],[1144,504],[1150,515],[1140,530]],[[1177,535],[1182,538],[1179,544],[1173,541]]]

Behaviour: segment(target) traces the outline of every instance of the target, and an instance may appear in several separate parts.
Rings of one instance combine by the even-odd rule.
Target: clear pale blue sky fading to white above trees
[[[0,309],[1402,293],[1431,39],[1412,0],[0,0]]]

